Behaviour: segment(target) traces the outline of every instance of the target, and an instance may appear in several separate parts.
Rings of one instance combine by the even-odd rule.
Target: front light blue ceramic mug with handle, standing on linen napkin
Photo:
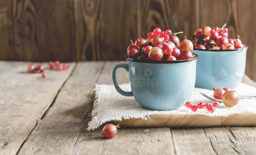
[[[127,58],[128,64],[118,64],[113,69],[113,83],[119,94],[133,96],[150,110],[174,110],[188,101],[195,84],[198,56],[187,60],[144,61]],[[116,70],[129,72],[131,91],[122,90],[116,81]]]

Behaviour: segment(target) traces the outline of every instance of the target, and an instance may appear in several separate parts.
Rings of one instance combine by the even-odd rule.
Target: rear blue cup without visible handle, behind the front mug
[[[247,49],[247,45],[235,50],[194,49],[198,54],[195,87],[236,88],[245,73]]]

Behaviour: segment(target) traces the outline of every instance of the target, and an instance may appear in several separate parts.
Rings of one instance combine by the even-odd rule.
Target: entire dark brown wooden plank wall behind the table
[[[1,0],[0,59],[122,60],[130,39],[156,26],[182,39],[227,23],[249,45],[246,74],[256,81],[255,14],[254,0]]]

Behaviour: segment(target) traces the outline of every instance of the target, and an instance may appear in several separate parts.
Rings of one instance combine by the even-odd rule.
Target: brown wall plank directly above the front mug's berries
[[[191,34],[199,27],[199,1],[137,1],[136,36],[146,37],[155,27],[181,32],[191,39]]]

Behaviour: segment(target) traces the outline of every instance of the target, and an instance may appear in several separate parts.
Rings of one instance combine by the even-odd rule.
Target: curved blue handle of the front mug
[[[116,70],[118,68],[124,68],[126,71],[129,71],[129,66],[128,64],[117,64],[114,68],[113,68],[113,73],[112,73],[112,79],[113,79],[113,83],[114,83],[114,86],[115,86],[115,89],[117,92],[119,92],[119,94],[123,95],[123,96],[133,96],[132,92],[131,91],[124,91],[122,90],[117,81],[116,81]]]

